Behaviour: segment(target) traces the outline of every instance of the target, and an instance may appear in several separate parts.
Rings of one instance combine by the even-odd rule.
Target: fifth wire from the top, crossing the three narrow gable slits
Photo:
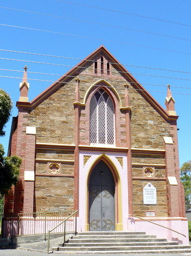
[[[20,62],[29,62],[29,63],[37,63],[37,64],[55,65],[55,66],[62,66],[62,67],[76,67],[76,68],[86,69],[86,67],[80,67],[80,66],[72,66],[72,65],[64,65],[64,64],[56,64],[56,63],[46,63],[46,62],[35,62],[35,61],[28,61],[28,60],[17,60],[17,59],[14,59],[14,58],[3,58],[3,57],[0,57],[0,60],[20,61]],[[97,69],[97,70],[102,70],[102,69]],[[152,77],[160,77],[160,78],[169,78],[169,79],[176,79],[176,80],[191,81],[191,79],[180,78],[180,77],[171,77],[171,76],[162,76],[162,75],[150,75],[150,74],[141,74],[141,73],[117,71],[117,70],[116,71],[112,71],[112,72],[125,73],[125,74],[136,74],[136,75],[146,75],[146,76],[152,76]]]

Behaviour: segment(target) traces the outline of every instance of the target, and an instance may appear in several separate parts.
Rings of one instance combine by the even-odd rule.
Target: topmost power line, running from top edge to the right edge
[[[154,18],[154,17],[144,16],[144,15],[139,15],[139,14],[134,14],[134,13],[129,13],[129,12],[122,12],[122,11],[117,11],[117,10],[112,10],[112,9],[96,7],[96,6],[84,5],[84,4],[79,4],[79,3],[71,3],[71,2],[63,1],[63,0],[54,0],[54,1],[63,2],[63,3],[67,3],[67,4],[73,4],[73,5],[79,5],[79,6],[84,6],[84,7],[94,8],[94,9],[100,9],[100,10],[104,10],[104,11],[117,12],[117,13],[122,13],[122,14],[126,14],[126,15],[141,17],[141,18],[149,18],[149,19],[154,19],[155,21],[167,22],[167,23],[172,23],[172,24],[176,24],[176,25],[191,27],[191,25],[189,25],[189,24],[167,21],[166,19],[161,19],[161,18]]]

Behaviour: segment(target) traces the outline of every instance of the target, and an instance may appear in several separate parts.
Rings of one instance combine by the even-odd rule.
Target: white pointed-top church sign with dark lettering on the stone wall
[[[156,188],[148,183],[143,189],[144,204],[155,205],[156,204]]]

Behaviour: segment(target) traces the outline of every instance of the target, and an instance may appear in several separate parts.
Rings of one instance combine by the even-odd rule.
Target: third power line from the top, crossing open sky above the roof
[[[111,42],[111,43],[116,43],[116,44],[124,44],[124,45],[138,46],[138,47],[144,47],[144,48],[149,48],[149,49],[155,49],[155,50],[169,51],[169,52],[175,52],[175,53],[181,53],[181,54],[189,54],[189,55],[191,55],[191,53],[189,53],[189,52],[181,52],[181,51],[175,51],[175,50],[168,50],[168,49],[163,49],[163,48],[158,48],[158,47],[152,47],[152,46],[146,46],[146,45],[130,44],[130,43],[127,43],[127,42],[120,42],[120,41],[108,40],[108,39],[105,39],[105,38],[97,38],[97,37],[91,37],[91,36],[85,36],[85,35],[76,35],[76,34],[62,33],[62,32],[57,32],[57,31],[44,30],[44,29],[36,29],[36,28],[28,28],[28,27],[21,27],[21,26],[14,26],[14,25],[8,25],[8,24],[0,24],[0,25],[1,25],[1,26],[12,27],[12,28],[21,28],[21,29],[29,29],[29,30],[34,30],[34,31],[40,31],[40,32],[48,32],[48,33],[54,33],[54,34],[76,36],[76,37],[88,38],[88,39],[92,39],[92,40],[101,40],[101,41],[106,41],[106,42]]]

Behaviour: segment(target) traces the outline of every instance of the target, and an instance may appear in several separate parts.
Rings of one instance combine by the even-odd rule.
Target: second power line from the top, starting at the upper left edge
[[[102,25],[102,26],[107,26],[107,27],[112,27],[112,28],[118,28],[118,29],[126,29],[126,30],[130,30],[130,31],[136,31],[136,32],[147,33],[147,34],[152,34],[152,35],[159,35],[159,36],[170,37],[170,38],[174,38],[174,39],[178,39],[178,40],[191,41],[190,39],[188,39],[188,38],[183,38],[183,37],[177,37],[177,36],[172,36],[172,35],[165,35],[165,34],[154,33],[154,32],[150,32],[150,31],[145,31],[145,30],[132,29],[132,28],[121,27],[121,26],[116,26],[116,25],[111,25],[111,24],[105,24],[105,23],[98,23],[98,22],[92,22],[92,21],[84,21],[84,20],[82,20],[82,19],[63,17],[63,16],[54,15],[54,14],[41,13],[41,12],[34,12],[34,11],[28,11],[28,10],[20,10],[20,9],[14,9],[14,8],[9,8],[9,7],[4,7],[4,6],[0,6],[0,8],[9,9],[9,10],[14,10],[14,11],[28,12],[28,13],[39,14],[39,15],[45,15],[45,16],[51,16],[51,17],[65,18],[65,19],[70,19],[70,20],[72,20],[72,21],[78,21],[78,22],[84,22],[84,23]]]

